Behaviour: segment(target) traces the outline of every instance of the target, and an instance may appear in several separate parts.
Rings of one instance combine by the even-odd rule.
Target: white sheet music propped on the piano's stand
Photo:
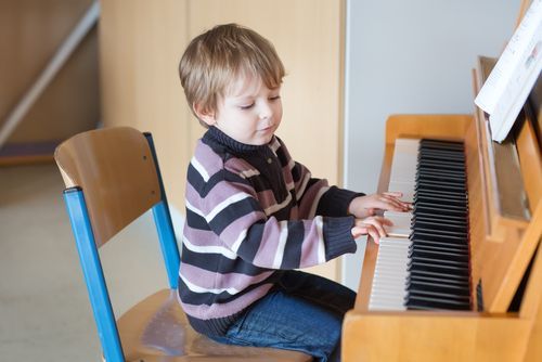
[[[533,0],[475,100],[494,141],[508,134],[541,69],[542,0]]]

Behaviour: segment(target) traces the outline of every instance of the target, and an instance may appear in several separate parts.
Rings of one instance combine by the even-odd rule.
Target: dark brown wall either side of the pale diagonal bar
[[[0,127],[92,0],[0,1]],[[65,139],[100,120],[98,31],[83,39],[9,143]]]

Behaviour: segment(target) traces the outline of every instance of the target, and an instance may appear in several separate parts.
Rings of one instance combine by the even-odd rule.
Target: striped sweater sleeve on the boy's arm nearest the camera
[[[297,269],[356,251],[352,217],[283,220],[268,217],[251,186],[223,170],[204,195],[189,192],[186,207],[199,215],[224,245],[260,268]]]

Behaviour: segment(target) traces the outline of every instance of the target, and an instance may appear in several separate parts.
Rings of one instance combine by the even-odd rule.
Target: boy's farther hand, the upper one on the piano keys
[[[401,192],[384,192],[382,194],[372,194],[359,196],[352,199],[348,206],[348,212],[356,218],[363,219],[375,215],[377,209],[391,211],[409,211],[412,208],[410,203],[399,199],[403,194]]]

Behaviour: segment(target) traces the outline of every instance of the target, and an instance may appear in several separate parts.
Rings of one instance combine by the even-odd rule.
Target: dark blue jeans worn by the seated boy
[[[322,276],[284,271],[271,292],[212,339],[238,346],[301,351],[318,361],[340,361],[340,329],[356,293]]]

